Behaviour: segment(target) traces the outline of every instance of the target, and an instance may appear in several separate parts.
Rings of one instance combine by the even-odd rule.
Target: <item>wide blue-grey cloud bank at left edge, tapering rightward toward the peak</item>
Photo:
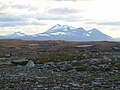
[[[46,25],[40,22],[36,18],[24,17],[24,16],[11,16],[0,14],[0,27],[16,27],[24,25]]]

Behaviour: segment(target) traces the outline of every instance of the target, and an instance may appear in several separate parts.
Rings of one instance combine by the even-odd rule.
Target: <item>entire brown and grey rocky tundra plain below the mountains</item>
[[[0,90],[120,90],[120,43],[0,40]]]

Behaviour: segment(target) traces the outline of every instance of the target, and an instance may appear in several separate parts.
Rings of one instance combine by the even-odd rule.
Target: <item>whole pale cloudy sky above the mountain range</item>
[[[42,33],[56,24],[120,37],[120,0],[0,0],[0,35]]]

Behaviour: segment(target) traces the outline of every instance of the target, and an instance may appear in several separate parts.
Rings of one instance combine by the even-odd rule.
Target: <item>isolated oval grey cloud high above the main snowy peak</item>
[[[75,14],[75,13],[79,13],[79,12],[80,12],[79,10],[69,9],[69,8],[54,8],[54,9],[50,9],[48,11],[48,13],[59,14],[59,15]]]

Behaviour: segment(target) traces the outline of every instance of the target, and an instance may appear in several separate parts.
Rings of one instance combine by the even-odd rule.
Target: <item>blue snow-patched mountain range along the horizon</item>
[[[26,35],[21,32],[14,32],[0,36],[1,39],[22,39],[22,40],[68,40],[68,41],[104,41],[112,40],[112,37],[93,28],[85,30],[67,25],[57,24],[46,32],[34,35]]]

